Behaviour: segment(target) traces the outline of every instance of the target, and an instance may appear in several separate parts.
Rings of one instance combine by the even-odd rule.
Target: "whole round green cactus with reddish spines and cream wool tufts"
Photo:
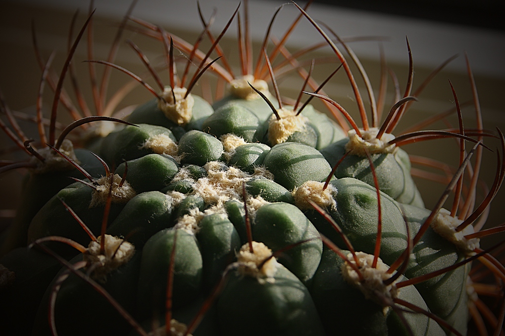
[[[307,14],[308,6],[295,6],[298,17],[282,43],[305,17],[326,39],[344,64],[351,86],[357,88],[335,43]],[[502,300],[499,286],[505,281],[505,268],[492,254],[497,246],[479,246],[480,238],[505,231],[503,226],[480,231],[505,176],[501,131],[487,131],[480,122],[476,130],[465,129],[452,85],[460,121],[457,129],[394,138],[390,133],[418,95],[411,94],[409,87],[382,126],[373,94],[370,126],[357,89],[360,128],[330,98],[331,92],[322,91],[340,68],[318,85],[312,73],[320,64],[314,60],[302,76],[305,83],[300,94],[288,105],[277,86],[278,69],[272,67],[282,43],[276,42],[268,54],[268,29],[264,50],[252,64],[251,46],[248,37],[243,37],[238,13],[239,8],[215,38],[210,27],[213,19],[207,23],[200,11],[204,30],[194,45],[130,17],[140,32],[160,40],[165,49],[168,86],[140,48],[128,41],[161,93],[116,65],[113,57],[89,60],[88,64],[105,65],[107,72],[115,68],[131,76],[155,98],[138,101],[140,105],[126,117],[128,125],[76,141],[94,153],[86,152],[98,168],[64,151],[60,139],[55,142],[52,121],[48,155],[75,168],[79,175],[73,176],[74,184],[51,181],[54,190],[44,190],[44,195],[24,186],[23,192],[39,196],[43,204],[23,200],[20,210],[36,209],[31,211],[29,227],[13,224],[27,237],[16,245],[28,247],[13,249],[12,241],[2,242],[6,254],[0,259],[0,295],[5,304],[0,313],[7,332],[146,335],[146,330],[154,332],[165,324],[166,334],[181,335],[444,335],[471,334],[467,327],[472,317],[484,334],[479,310],[486,308],[475,293],[485,295],[493,289],[493,295]],[[232,74],[219,47],[233,20],[239,21],[239,35],[244,38],[238,43],[241,77]],[[212,42],[207,53],[198,49],[205,35]],[[360,64],[348,45],[334,36]],[[188,54],[180,78],[174,48]],[[213,51],[219,59],[211,61]],[[297,67],[295,58],[284,56]],[[195,60],[197,69],[185,86],[189,65]],[[212,104],[192,92],[209,74],[228,82],[230,88]],[[471,71],[469,75],[475,90]],[[268,81],[274,94],[269,92]],[[365,82],[371,92],[369,81]],[[315,92],[308,93],[301,104],[307,84]],[[315,104],[323,102],[328,107],[336,122],[308,104],[314,97],[320,98]],[[60,100],[58,94],[54,99]],[[37,157],[3,99],[2,104],[14,132],[2,119],[0,126]],[[103,111],[97,111],[98,119],[88,116],[76,122],[113,120],[101,116]],[[342,115],[351,125],[348,136]],[[38,125],[43,129],[41,112]],[[62,133],[63,139],[68,131]],[[424,209],[412,179],[409,156],[398,147],[446,137],[457,139],[460,145],[459,168],[450,172],[445,190],[430,211]],[[489,149],[487,138],[500,143],[497,169],[492,186],[483,188],[482,204],[473,210],[478,178],[467,182],[464,176],[479,169],[479,158]],[[465,142],[476,143],[468,154]],[[469,168],[474,153],[478,159]],[[5,165],[18,166],[31,167]],[[9,168],[0,167],[0,172]],[[442,206],[451,192],[455,197],[447,211]],[[474,224],[479,218],[481,222]],[[478,286],[481,280],[470,272],[474,260],[492,273],[494,283]],[[19,314],[23,307],[26,316]],[[483,314],[489,328],[499,333],[505,308],[503,303],[495,307],[501,309],[496,315]]]

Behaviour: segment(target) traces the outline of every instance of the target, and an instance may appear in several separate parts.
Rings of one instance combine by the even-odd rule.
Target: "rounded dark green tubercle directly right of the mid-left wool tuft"
[[[119,165],[115,173],[123,176],[125,163]],[[148,154],[128,161],[126,180],[132,188],[141,193],[150,190],[161,190],[166,187],[179,171],[179,165],[168,156]]]

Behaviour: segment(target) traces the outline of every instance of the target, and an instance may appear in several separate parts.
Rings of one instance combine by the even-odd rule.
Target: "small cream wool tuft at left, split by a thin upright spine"
[[[133,196],[136,195],[135,190],[131,187],[128,181],[124,181],[123,185],[120,187],[122,177],[118,174],[114,174],[114,179],[112,182],[112,201],[113,203],[127,203]],[[96,180],[98,185],[96,190],[93,191],[91,196],[91,203],[89,208],[94,208],[100,205],[104,205],[109,196],[109,189],[111,187],[110,177],[102,176]]]

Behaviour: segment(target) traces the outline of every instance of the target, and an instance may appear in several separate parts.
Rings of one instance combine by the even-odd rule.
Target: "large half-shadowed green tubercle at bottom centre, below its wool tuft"
[[[232,272],[217,310],[221,335],[324,335],[309,291],[282,265],[274,283]]]

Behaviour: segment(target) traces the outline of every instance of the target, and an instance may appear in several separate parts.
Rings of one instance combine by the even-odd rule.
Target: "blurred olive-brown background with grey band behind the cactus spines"
[[[327,2],[330,3],[330,2]],[[333,6],[335,3],[338,6]],[[492,131],[495,127],[505,129],[505,115],[503,105],[503,92],[505,92],[505,33],[503,31],[503,4],[492,1],[417,1],[417,2],[331,2],[328,4],[316,2],[308,10],[315,20],[328,25],[340,37],[349,41],[349,46],[361,59],[363,66],[370,77],[375,95],[378,95],[381,62],[379,57],[379,45],[383,46],[387,66],[398,78],[399,87],[403,94],[405,90],[409,56],[407,52],[406,37],[409,40],[414,61],[414,90],[437,68],[444,60],[452,55],[458,57],[451,61],[444,70],[438,74],[419,95],[416,102],[409,109],[405,117],[400,121],[393,132],[399,135],[402,129],[444,112],[454,106],[454,98],[450,90],[448,79],[454,85],[460,102],[472,100],[472,90],[467,73],[464,53],[468,54],[471,69],[475,76],[484,127]],[[380,6],[379,6],[380,4]],[[242,7],[243,7],[242,3]],[[261,41],[265,36],[266,29],[274,11],[284,5],[277,16],[272,35],[280,38],[289,25],[299,14],[297,9],[290,3],[277,1],[249,1],[249,24],[250,34],[254,41],[254,59],[257,59]],[[300,3],[300,6],[305,3]],[[94,59],[106,59],[119,23],[126,13],[129,1],[102,0],[95,1],[96,8],[93,17],[93,55]],[[215,36],[219,35],[233,11],[238,6],[237,1],[213,0],[200,3],[201,10],[209,19],[213,10],[217,9],[215,23],[211,31]],[[0,12],[0,89],[6,103],[15,111],[34,113],[34,104],[40,81],[41,71],[37,65],[32,45],[32,22],[35,28],[37,42],[41,54],[47,59],[51,52],[56,51],[56,59],[53,69],[58,73],[66,57],[68,45],[68,32],[70,23],[76,10],[76,28],[73,35],[77,34],[84,23],[89,11],[89,3],[77,0],[17,0],[16,2],[2,1]],[[162,1],[140,0],[136,5],[133,16],[139,19],[162,26],[165,30],[183,38],[189,43],[194,43],[201,32],[202,24],[198,17],[196,2],[185,1]],[[237,20],[226,32],[220,45],[225,51],[226,58],[232,63],[233,69],[239,73],[237,38]],[[129,23],[132,27],[137,27]],[[147,36],[127,29],[120,43],[120,50],[116,57],[116,63],[135,74],[141,75],[150,84],[154,81],[146,75],[146,70],[135,52],[124,43],[125,39],[133,40],[155,64],[165,62],[163,45]],[[302,18],[291,36],[287,40],[287,48],[294,52],[323,41],[321,35],[305,19]],[[202,42],[200,49],[206,52],[211,43],[207,38]],[[272,49],[269,43],[268,50]],[[184,58],[181,53],[176,55]],[[216,57],[212,54],[212,58]],[[347,55],[346,55],[347,57]],[[76,51],[73,60],[80,88],[83,95],[89,98],[91,105],[91,85],[89,82],[88,66],[82,60],[88,58],[86,41],[83,39]],[[336,57],[329,47],[320,48],[310,55],[300,58],[307,60],[305,69],[310,66],[310,59],[316,58],[314,78],[321,82],[337,66]],[[347,57],[347,59],[349,59]],[[274,62],[275,64],[275,62]],[[182,72],[185,63],[178,65]],[[351,66],[355,78],[359,83],[365,101],[366,91],[357,69]],[[103,71],[102,65],[96,66],[97,73]],[[160,72],[162,81],[168,83],[167,71]],[[295,99],[302,86],[300,79],[293,72],[277,78],[281,94]],[[126,75],[116,70],[112,71],[109,97],[130,81]],[[197,92],[201,92],[202,86],[209,86],[216,92],[216,77],[209,75],[208,79],[201,80]],[[70,81],[66,79],[66,88],[72,92]],[[200,91],[198,91],[200,90]],[[357,106],[354,95],[350,89],[349,81],[343,71],[325,86],[325,92],[339,102],[358,120]],[[72,95],[71,95],[72,96]],[[388,94],[386,97],[385,110],[392,106],[394,89],[391,79],[388,79]],[[151,94],[141,86],[135,88],[118,106],[117,110],[140,104],[151,98]],[[48,115],[52,103],[52,93],[48,88],[44,95],[45,115]],[[328,113],[319,102],[315,105]],[[59,112],[60,121],[68,123],[70,117],[65,110]],[[465,127],[475,127],[475,108],[472,104],[463,108]],[[1,116],[4,120],[4,116]],[[453,114],[446,118],[448,122],[456,126],[457,117]],[[22,127],[35,130],[33,123],[22,122]],[[439,121],[428,128],[446,128],[447,124]],[[30,131],[28,131],[30,132]],[[36,134],[36,133],[35,133]],[[486,144],[491,149],[498,146],[493,139],[486,139]],[[2,158],[10,160],[25,160],[26,156],[19,151],[12,151],[13,143],[2,133],[0,134],[0,150]],[[407,145],[406,151],[413,155],[421,155],[440,160],[451,166],[458,164],[458,143],[452,139],[436,140],[418,144]],[[416,168],[423,168],[416,166]],[[486,151],[482,165],[481,177],[488,185],[491,185],[495,175],[496,156]],[[440,173],[439,170],[431,170]],[[19,184],[25,171],[17,170],[0,175],[0,230],[8,225],[10,218],[17,207],[19,197]],[[417,178],[426,207],[430,209],[442,193],[444,186],[437,182]],[[482,192],[481,192],[482,194]],[[504,222],[500,205],[505,202],[505,191],[501,190],[493,202],[488,225],[495,226]],[[482,196],[479,196],[480,200]],[[446,206],[447,208],[450,206]],[[503,239],[501,237],[501,239]]]

